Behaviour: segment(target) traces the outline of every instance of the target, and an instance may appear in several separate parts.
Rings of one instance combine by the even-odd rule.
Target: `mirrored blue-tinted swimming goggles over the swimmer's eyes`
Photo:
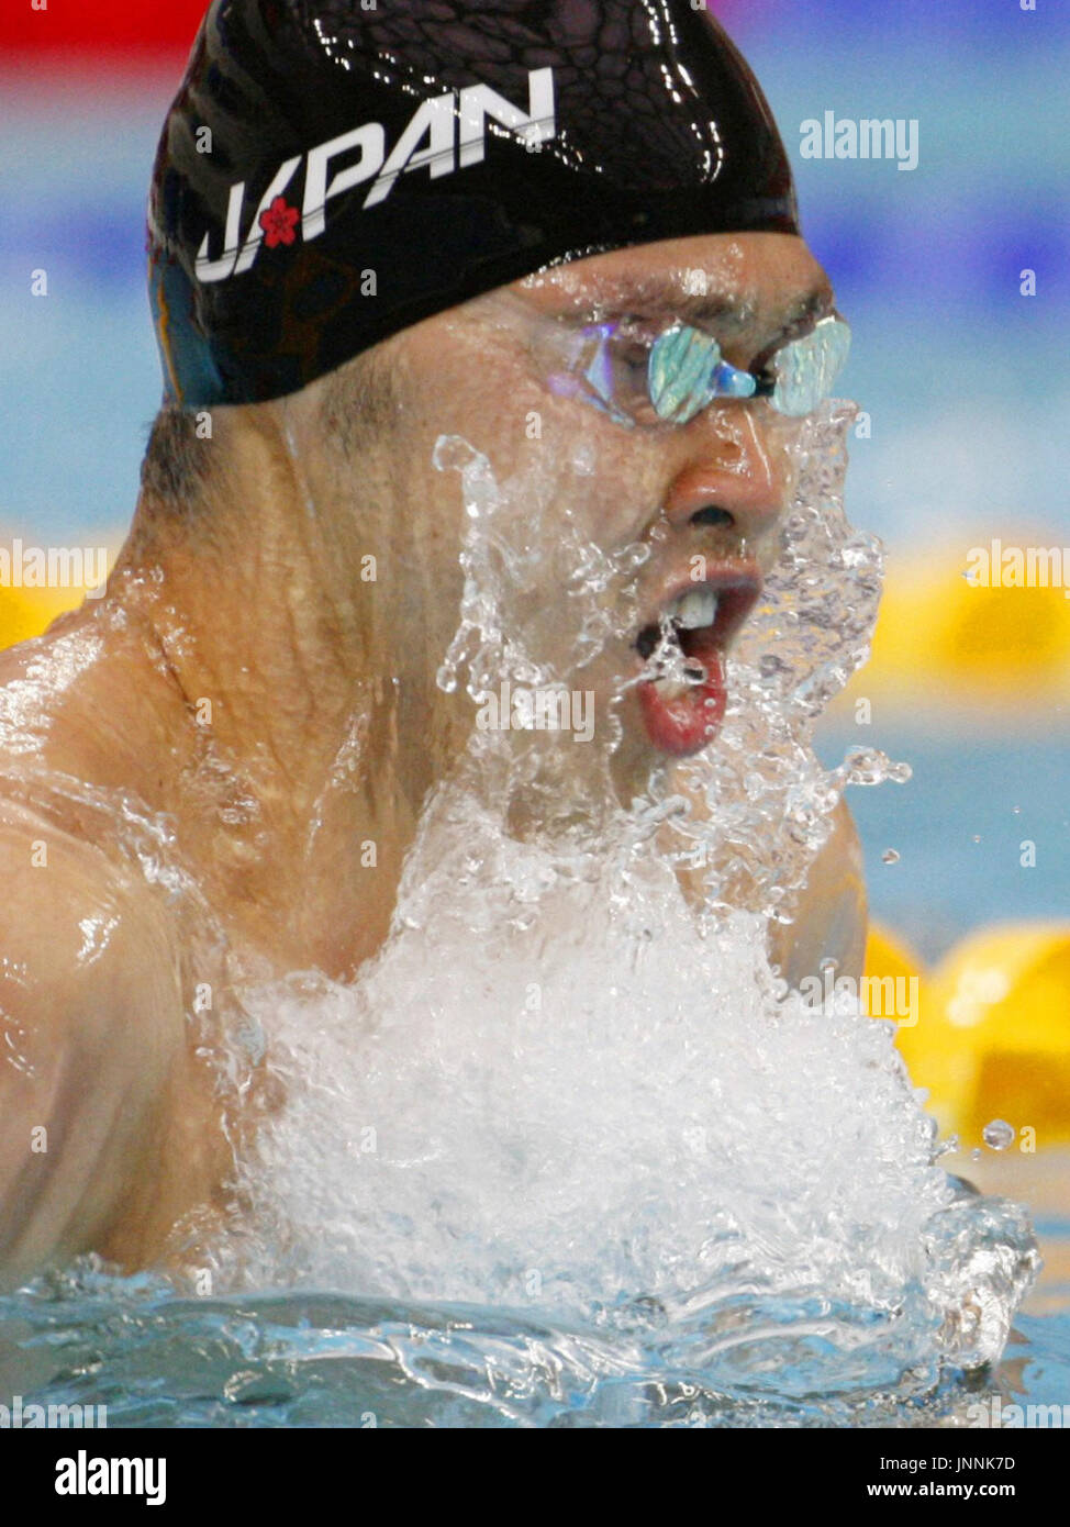
[[[780,345],[753,371],[730,365],[699,328],[673,324],[656,337],[633,321],[557,330],[545,366],[550,389],[609,414],[620,425],[687,425],[717,399],[768,397],[789,418],[803,418],[830,395],[850,350],[850,327],[823,318],[809,333]]]

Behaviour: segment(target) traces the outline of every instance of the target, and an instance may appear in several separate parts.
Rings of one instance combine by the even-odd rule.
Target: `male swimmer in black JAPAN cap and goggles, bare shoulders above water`
[[[473,727],[435,681],[464,534],[440,437],[499,483],[589,449],[551,512],[650,545],[585,680],[630,676],[627,803],[717,745],[847,344],[769,108],[690,0],[215,0],[148,252],[165,397],[128,539],[104,597],[0,657],[8,1281],[157,1264],[221,1212],[272,1098],[221,1104],[214,1025],[244,980],[382,947]],[[841,812],[774,957],[856,973],[864,924]]]

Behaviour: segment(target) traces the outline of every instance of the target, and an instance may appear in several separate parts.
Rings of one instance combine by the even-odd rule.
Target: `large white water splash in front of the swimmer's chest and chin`
[[[220,1249],[217,1277],[395,1315],[461,1306],[462,1338],[421,1318],[414,1382],[504,1412],[524,1394],[527,1416],[569,1412],[569,1393],[591,1416],[595,1391],[647,1414],[655,1382],[707,1419],[907,1402],[998,1359],[1036,1267],[1024,1215],[942,1170],[891,1025],[806,1005],[766,954],[766,918],[791,919],[844,786],[908,774],[861,750],[824,770],[811,745],[879,597],[879,548],[843,515],[849,417],[804,435],[717,745],[627,805],[612,791],[624,678],[603,680],[649,547],[611,554],[548,525],[548,479],[498,484],[467,443],[440,441],[467,510],[441,687],[476,699],[504,675],[597,675],[609,724],[589,750],[473,730],[360,979],[244,994],[288,1101],[243,1182],[256,1234]],[[536,565],[568,589],[550,623]],[[513,829],[517,802],[542,831]],[[702,873],[698,907],[682,861]]]

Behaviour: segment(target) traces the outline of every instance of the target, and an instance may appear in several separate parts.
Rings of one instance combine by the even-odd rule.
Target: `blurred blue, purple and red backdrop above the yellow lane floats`
[[[201,6],[85,9],[0,20],[0,515],[55,541],[118,534],[133,505],[160,395],[145,192]],[[844,389],[873,418],[852,464],[855,521],[902,554],[986,524],[1064,533],[1065,14],[1044,0],[713,9],[772,102],[804,232],[855,330]],[[153,29],[171,41],[151,46]],[[798,127],[826,110],[917,118],[917,169],[801,159]],[[37,267],[47,299],[29,295]],[[1035,298],[1018,293],[1024,267]]]

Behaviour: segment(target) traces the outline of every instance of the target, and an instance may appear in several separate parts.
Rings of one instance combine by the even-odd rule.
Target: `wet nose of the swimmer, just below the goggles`
[[[701,455],[693,454],[673,478],[666,498],[672,525],[731,528],[757,541],[777,522],[788,504],[788,473],[774,460],[743,409],[734,409],[731,434],[717,434]]]

